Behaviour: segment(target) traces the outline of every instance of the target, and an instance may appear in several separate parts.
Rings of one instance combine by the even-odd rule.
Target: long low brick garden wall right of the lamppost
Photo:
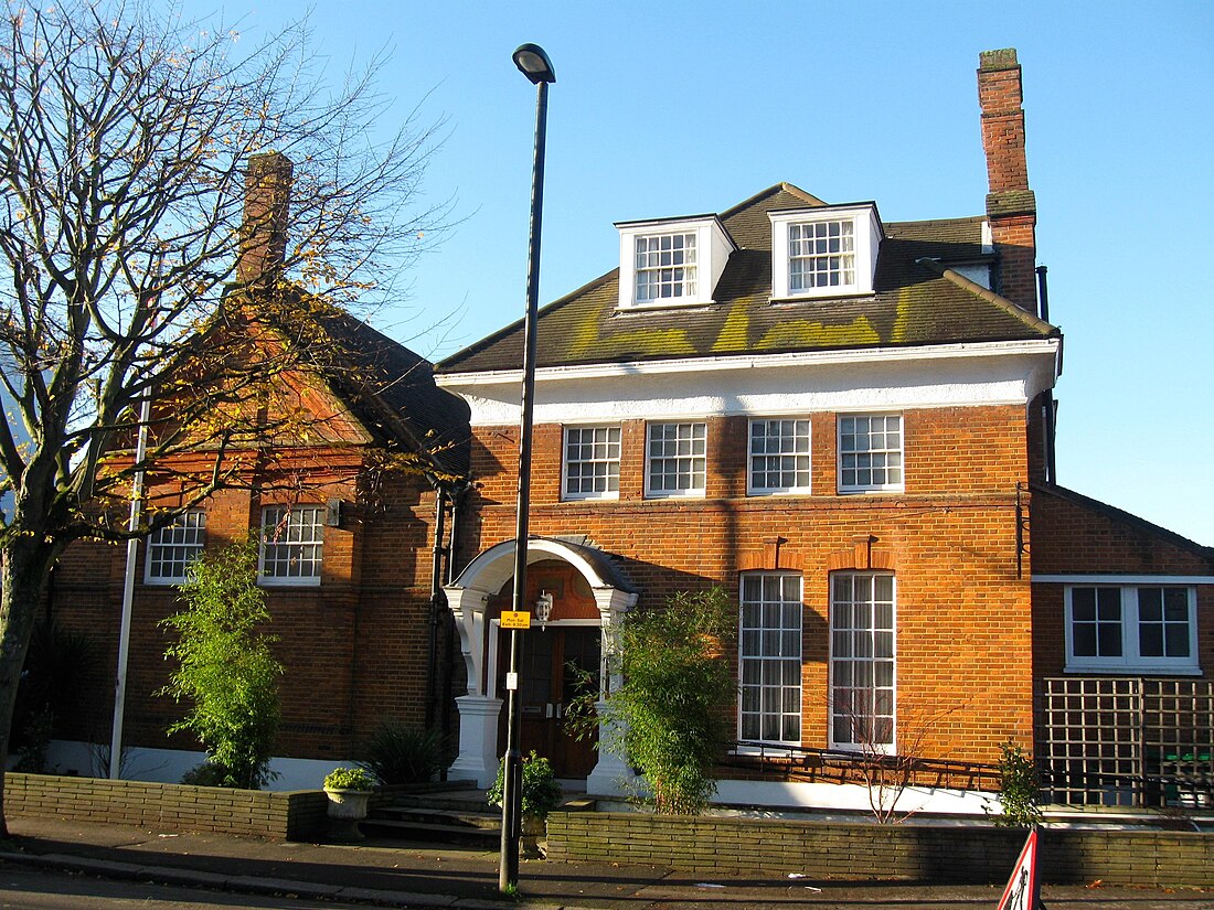
[[[798,872],[810,878],[1000,885],[1025,832],[982,825],[555,812],[548,857],[556,861],[651,863],[708,875]],[[1142,886],[1214,886],[1214,835],[1181,831],[1043,830],[1046,882],[1104,880]]]

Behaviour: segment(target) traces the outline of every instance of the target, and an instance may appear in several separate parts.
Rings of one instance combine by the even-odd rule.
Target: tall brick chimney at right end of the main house
[[[999,254],[995,290],[1037,313],[1037,198],[1028,188],[1025,109],[1016,50],[978,55],[978,104],[987,159],[987,221]]]

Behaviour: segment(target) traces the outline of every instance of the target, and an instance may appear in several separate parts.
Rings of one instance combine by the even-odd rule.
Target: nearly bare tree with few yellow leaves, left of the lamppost
[[[291,369],[340,360],[317,326],[446,211],[419,205],[433,130],[410,116],[374,143],[376,66],[329,90],[304,24],[250,49],[134,1],[69,0],[7,2],[0,29],[4,767],[63,548],[146,534],[234,482],[254,438],[306,437]],[[159,406],[137,461],[144,398]],[[144,470],[177,472],[180,493],[129,531],[114,506]]]

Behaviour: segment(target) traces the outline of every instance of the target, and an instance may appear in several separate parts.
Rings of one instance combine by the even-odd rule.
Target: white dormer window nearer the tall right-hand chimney
[[[824,205],[768,217],[773,300],[873,292],[884,235],[875,205]]]

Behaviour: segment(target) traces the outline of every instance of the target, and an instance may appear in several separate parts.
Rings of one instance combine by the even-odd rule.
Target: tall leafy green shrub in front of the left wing
[[[191,703],[169,733],[193,733],[221,774],[221,785],[256,790],[272,779],[271,750],[278,732],[282,665],[254,630],[270,619],[257,587],[253,538],[189,567],[181,587],[186,609],[161,621],[177,633],[165,658],[177,670],[159,694]]]

